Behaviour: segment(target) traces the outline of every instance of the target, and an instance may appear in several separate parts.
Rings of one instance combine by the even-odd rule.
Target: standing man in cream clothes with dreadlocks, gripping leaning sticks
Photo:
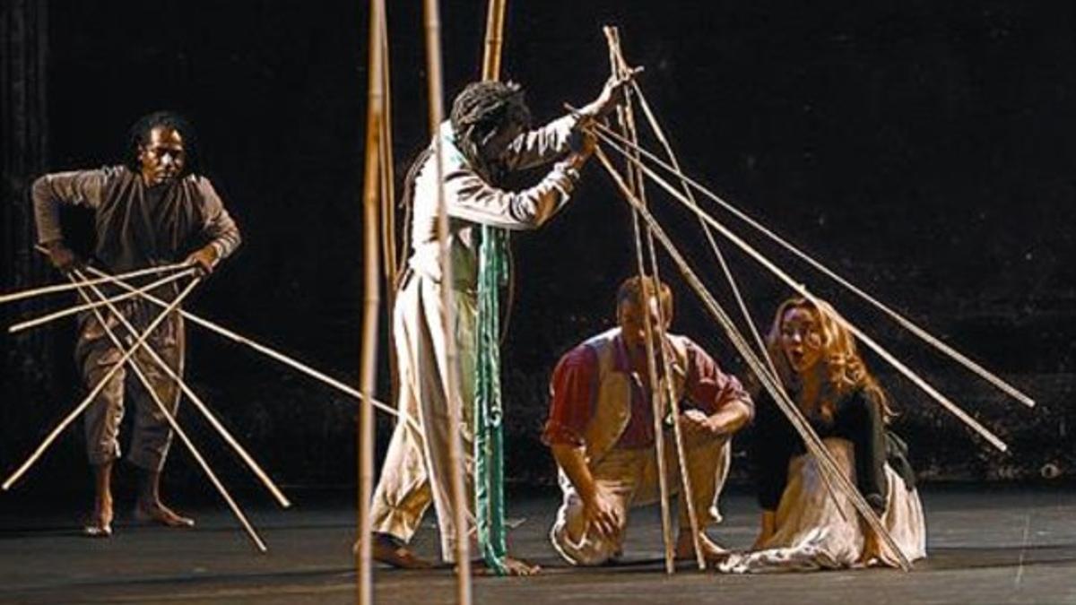
[[[452,473],[449,431],[454,428],[449,422],[449,406],[462,410],[466,426],[475,395],[479,228],[537,229],[564,208],[594,149],[593,140],[582,136],[582,126],[613,109],[626,82],[610,79],[597,98],[579,112],[533,130],[518,84],[469,84],[456,96],[450,119],[436,135],[441,142],[440,177],[433,145],[412,166],[405,189],[405,200],[412,209],[411,253],[396,297],[393,340],[400,376],[397,406],[415,419],[420,428],[397,424],[385,454],[370,512],[376,560],[396,567],[429,567],[431,563],[417,557],[408,543],[426,509],[434,505],[441,558],[453,562],[454,503],[448,486]],[[552,167],[536,185],[520,191],[505,188],[505,175],[542,165]],[[437,238],[442,191],[450,219],[451,283],[442,279]],[[451,287],[455,300],[454,361],[445,353],[442,287]],[[449,371],[456,374],[455,397],[444,389]],[[470,431],[461,431],[461,437],[469,451]],[[466,473],[465,482],[469,493],[471,477]],[[506,558],[505,565],[510,575],[538,571],[512,557]]]

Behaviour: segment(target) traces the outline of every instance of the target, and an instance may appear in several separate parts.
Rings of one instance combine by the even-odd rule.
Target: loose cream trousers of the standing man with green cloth
[[[444,324],[441,315],[441,285],[412,273],[400,290],[393,310],[394,346],[399,367],[397,408],[422,427],[398,422],[393,432],[388,452],[381,468],[381,478],[373,493],[371,521],[374,532],[392,534],[405,541],[419,529],[430,502],[437,512],[441,534],[441,557],[454,561],[455,521],[452,505],[450,465],[449,397],[444,371],[456,371],[456,384],[462,402],[473,400],[475,393],[475,323],[477,301],[472,293],[455,291],[455,337],[457,363],[450,367],[444,348]],[[461,405],[464,455],[471,460],[469,405]],[[466,463],[464,482],[467,492],[467,516],[471,510],[471,465]]]

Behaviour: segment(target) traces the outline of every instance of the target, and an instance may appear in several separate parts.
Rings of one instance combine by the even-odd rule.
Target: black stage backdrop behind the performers
[[[390,4],[402,174],[428,128],[424,50],[417,2]],[[47,5],[47,14],[31,5]],[[454,94],[478,76],[484,3],[442,9],[445,87]],[[5,221],[25,213],[30,172],[116,163],[136,117],[179,110],[197,125],[208,173],[245,239],[189,308],[355,382],[364,2],[13,2],[5,11],[5,44],[42,53],[15,69],[5,47],[5,102],[25,97],[27,85],[42,87],[46,100],[24,103],[14,117],[5,113],[5,143],[13,123],[30,128],[29,142],[5,158]],[[38,29],[26,30],[26,18]],[[1039,400],[1035,410],[1006,400],[762,244],[1013,447],[1009,454],[991,451],[872,357],[924,478],[1076,474],[1071,2],[510,2],[505,72],[525,84],[536,116],[554,117],[564,102],[583,103],[598,92],[609,69],[604,24],[620,26],[629,60],[646,67],[642,86],[688,172]],[[45,138],[46,147],[33,146]],[[34,164],[38,153],[44,155]],[[727,301],[690,217],[659,203]],[[577,341],[611,325],[615,285],[632,270],[629,226],[624,202],[590,166],[562,215],[513,238],[515,304],[505,343],[512,479],[553,478],[538,441],[549,372]],[[26,254],[25,233],[9,224],[4,238],[5,259]],[[730,256],[756,321],[768,323],[787,292],[747,258]],[[31,268],[25,259],[5,266],[3,290],[29,277],[58,279]],[[664,269],[671,276],[670,266]],[[742,372],[690,291],[679,280],[674,290],[677,330]],[[2,312],[4,325],[26,313]],[[52,336],[34,341],[0,340],[4,474],[81,395],[70,361],[73,326],[48,329]],[[307,486],[353,481],[353,402],[189,329],[193,386],[274,477]],[[384,369],[381,393],[390,397]],[[181,420],[238,484],[242,469],[194,408],[185,407]],[[388,431],[382,423],[382,444]],[[748,439],[738,439],[738,452]],[[81,440],[81,428],[71,430],[22,489],[88,489],[88,478],[70,479],[85,468]],[[202,486],[180,450],[170,480]],[[739,480],[746,468],[735,464]]]

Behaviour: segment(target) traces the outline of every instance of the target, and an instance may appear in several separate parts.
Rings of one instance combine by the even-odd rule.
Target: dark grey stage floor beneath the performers
[[[269,545],[252,544],[223,505],[189,510],[198,527],[136,526],[121,516],[108,540],[80,537],[74,503],[30,507],[0,496],[0,603],[351,603],[354,510],[346,494],[297,491],[294,508],[249,510]],[[246,502],[261,501],[251,494]],[[513,551],[543,566],[534,578],[476,578],[477,603],[1076,603],[1076,489],[926,489],[929,559],[911,574],[892,569],[723,576],[682,565],[667,577],[660,561],[656,509],[633,516],[625,562],[571,568],[546,533],[553,494],[516,496],[509,517]],[[81,504],[81,502],[79,503]],[[756,511],[745,493],[723,504],[712,535],[750,545]],[[433,557],[431,516],[415,539]],[[448,568],[379,568],[380,603],[451,603]]]

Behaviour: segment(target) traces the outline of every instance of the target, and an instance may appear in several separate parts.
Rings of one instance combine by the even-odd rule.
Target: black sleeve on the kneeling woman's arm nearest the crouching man
[[[758,489],[759,506],[763,510],[777,510],[789,478],[789,459],[795,447],[788,419],[774,400],[760,396],[755,404],[754,435],[751,441],[751,461]]]

